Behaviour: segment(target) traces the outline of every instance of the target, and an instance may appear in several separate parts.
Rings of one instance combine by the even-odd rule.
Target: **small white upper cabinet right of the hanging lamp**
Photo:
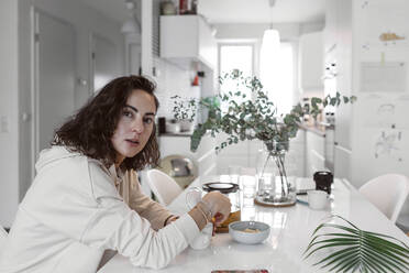
[[[299,87],[303,92],[323,89],[322,32],[307,33],[299,40]]]

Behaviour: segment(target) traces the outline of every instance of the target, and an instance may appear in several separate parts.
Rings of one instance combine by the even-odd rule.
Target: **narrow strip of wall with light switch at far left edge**
[[[0,225],[9,227],[19,203],[18,1],[0,2]],[[7,123],[7,124],[5,124]]]

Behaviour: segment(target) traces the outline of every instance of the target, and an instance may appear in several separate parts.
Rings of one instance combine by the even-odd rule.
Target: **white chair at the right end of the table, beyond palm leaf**
[[[395,223],[409,194],[409,178],[400,174],[382,175],[363,185],[360,193]]]

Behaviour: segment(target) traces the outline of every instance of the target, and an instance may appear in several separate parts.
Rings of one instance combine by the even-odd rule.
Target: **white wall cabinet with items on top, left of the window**
[[[217,44],[200,15],[161,17],[161,57],[189,69],[191,62],[217,67]]]

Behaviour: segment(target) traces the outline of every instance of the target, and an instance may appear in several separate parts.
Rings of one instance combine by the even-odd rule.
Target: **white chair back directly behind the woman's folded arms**
[[[163,206],[169,205],[183,192],[180,186],[170,176],[159,170],[148,170],[146,176],[152,192]]]

